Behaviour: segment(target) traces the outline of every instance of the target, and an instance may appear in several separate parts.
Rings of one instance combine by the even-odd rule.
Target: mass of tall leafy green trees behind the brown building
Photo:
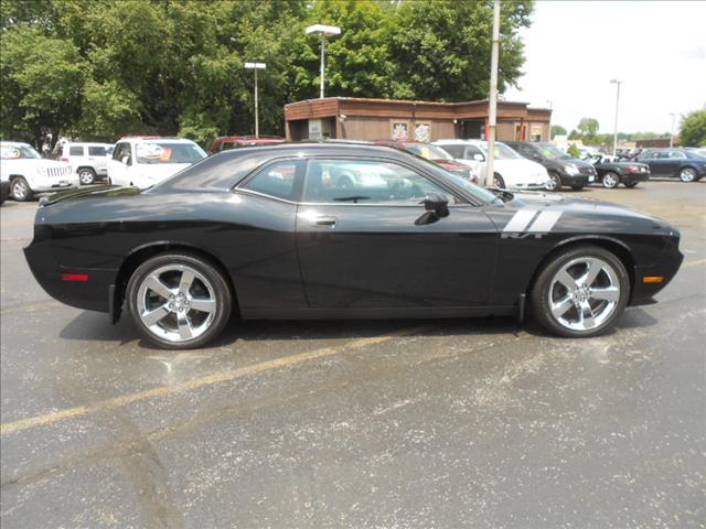
[[[532,0],[503,2],[501,91],[522,75]],[[488,97],[492,2],[458,0],[2,0],[0,133],[115,140],[130,132],[206,142],[284,132],[284,106],[319,95],[458,101]]]

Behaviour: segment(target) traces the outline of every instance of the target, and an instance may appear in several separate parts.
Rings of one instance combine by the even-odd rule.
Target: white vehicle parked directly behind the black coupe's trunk
[[[108,160],[108,183],[143,190],[204,158],[204,150],[191,140],[147,136],[122,138]]]

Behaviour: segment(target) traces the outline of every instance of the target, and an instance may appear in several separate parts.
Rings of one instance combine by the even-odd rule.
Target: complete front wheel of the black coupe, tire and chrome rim
[[[531,291],[538,323],[567,337],[602,334],[620,317],[629,298],[625,267],[613,253],[595,246],[554,257]]]

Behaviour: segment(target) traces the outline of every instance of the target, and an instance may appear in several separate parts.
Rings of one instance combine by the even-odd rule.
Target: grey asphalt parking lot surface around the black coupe
[[[167,352],[51,300],[1,208],[1,521],[33,527],[706,525],[706,182],[599,197],[685,262],[611,334],[511,319],[247,322]]]

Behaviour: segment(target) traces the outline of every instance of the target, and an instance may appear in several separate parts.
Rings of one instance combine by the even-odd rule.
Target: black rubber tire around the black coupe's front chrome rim
[[[564,267],[568,266],[574,261],[580,261],[581,259],[591,259],[591,258],[599,259],[605,263],[608,263],[609,267],[612,268],[612,271],[616,276],[616,280],[618,283],[619,299],[616,301],[616,304],[612,305],[612,309],[611,309],[612,312],[609,312],[608,314],[606,314],[606,319],[602,320],[600,324],[596,325],[592,328],[587,328],[587,330],[569,328],[565,324],[561,324],[559,320],[555,317],[555,315],[553,315],[552,309],[549,306],[549,295],[550,295],[549,289],[553,288],[553,284],[555,289],[557,287],[559,289],[561,288],[561,284],[559,282],[555,283],[554,280],[556,279],[556,276],[559,273],[559,271],[564,269]],[[580,267],[580,264],[577,264],[577,267]],[[600,274],[597,277],[597,281],[602,278],[602,273],[603,272],[601,271]],[[606,278],[608,278],[608,276],[606,276]],[[554,295],[554,292],[552,293],[552,295]],[[566,299],[568,300],[568,296],[570,296],[570,293],[567,291],[565,295],[567,296]],[[535,320],[552,334],[555,334],[558,336],[575,337],[575,338],[590,337],[590,336],[597,336],[597,335],[603,334],[608,328],[610,328],[613,325],[616,320],[620,317],[620,315],[625,309],[625,305],[629,299],[630,299],[630,278],[628,276],[628,272],[625,271],[625,267],[622,264],[620,259],[616,257],[614,253],[611,253],[610,251],[596,246],[579,246],[579,247],[570,248],[561,253],[557,253],[556,256],[554,256],[539,271],[539,274],[537,276],[530,291],[530,303],[531,303],[530,306]],[[577,307],[575,307],[574,305],[576,301],[569,301],[570,309],[568,311],[577,310]],[[600,306],[600,303],[603,303],[603,302],[599,301],[598,303]],[[605,306],[607,307],[609,302],[605,302],[605,303],[606,303]],[[566,314],[570,315],[570,312],[567,312]],[[578,316],[578,312],[576,314]],[[591,312],[591,315],[592,315],[592,312]]]

